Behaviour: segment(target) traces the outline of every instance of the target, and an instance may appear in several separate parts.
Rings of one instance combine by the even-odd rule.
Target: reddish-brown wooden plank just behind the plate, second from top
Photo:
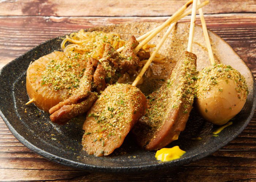
[[[206,15],[208,28],[221,36],[256,74],[256,14]],[[134,21],[164,21],[167,17],[0,17],[0,68],[50,38],[81,28]],[[189,22],[190,16],[181,20]],[[197,23],[200,24],[199,18]]]

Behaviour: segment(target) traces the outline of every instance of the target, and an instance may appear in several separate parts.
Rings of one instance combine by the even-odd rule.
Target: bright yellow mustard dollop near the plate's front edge
[[[172,148],[163,148],[157,151],[155,158],[159,161],[172,161],[174,159],[180,158],[186,152],[181,150],[179,146],[174,146]]]

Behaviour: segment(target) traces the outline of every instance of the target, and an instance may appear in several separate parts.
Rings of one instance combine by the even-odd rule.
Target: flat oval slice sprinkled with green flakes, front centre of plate
[[[83,124],[83,150],[103,156],[120,147],[146,110],[146,97],[129,84],[108,86],[88,112]]]

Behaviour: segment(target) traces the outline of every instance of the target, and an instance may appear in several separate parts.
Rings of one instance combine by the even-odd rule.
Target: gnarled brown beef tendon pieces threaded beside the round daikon
[[[87,112],[97,99],[97,94],[92,91],[93,85],[98,92],[105,90],[106,84],[113,84],[117,81],[118,73],[135,69],[139,58],[133,49],[137,45],[138,41],[132,36],[127,42],[126,48],[119,54],[110,44],[105,44],[105,52],[95,71],[93,66],[97,65],[97,60],[89,58],[86,70],[80,80],[79,89],[68,99],[49,110],[52,122],[65,124],[71,118]]]

